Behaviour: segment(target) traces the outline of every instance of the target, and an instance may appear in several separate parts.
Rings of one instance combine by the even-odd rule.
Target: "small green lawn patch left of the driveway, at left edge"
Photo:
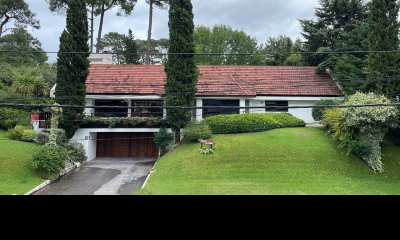
[[[0,194],[25,194],[43,182],[31,167],[38,145],[6,138],[6,132],[0,131]]]

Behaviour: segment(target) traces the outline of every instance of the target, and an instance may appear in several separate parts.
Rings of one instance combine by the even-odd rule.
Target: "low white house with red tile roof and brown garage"
[[[288,112],[307,123],[314,122],[310,108],[323,98],[342,98],[343,93],[328,75],[317,75],[315,67],[199,66],[193,118],[216,114]],[[87,116],[165,117],[164,66],[92,64],[87,79]],[[158,109],[124,107],[160,106]],[[226,106],[224,109],[212,106]],[[280,109],[270,106],[281,106]],[[207,108],[210,107],[210,108]],[[232,108],[229,108],[232,107]],[[238,107],[248,107],[239,109]],[[256,107],[256,108],[251,108]],[[96,157],[157,157],[153,135],[158,127],[81,128],[73,140],[82,142],[88,160]]]

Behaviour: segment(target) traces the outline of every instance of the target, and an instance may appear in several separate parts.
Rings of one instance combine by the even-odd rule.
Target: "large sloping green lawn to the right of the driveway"
[[[183,144],[156,165],[139,194],[400,194],[400,148],[384,147],[385,173],[346,156],[321,128],[217,135],[216,152]]]

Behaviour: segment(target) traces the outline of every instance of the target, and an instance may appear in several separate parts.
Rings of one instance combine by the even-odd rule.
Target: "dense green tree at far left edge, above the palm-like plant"
[[[10,34],[0,38],[0,62],[15,65],[42,65],[47,61],[42,44],[23,28],[13,29]]]

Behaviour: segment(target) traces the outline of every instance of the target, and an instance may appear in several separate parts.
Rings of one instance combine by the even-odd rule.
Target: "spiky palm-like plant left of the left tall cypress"
[[[42,76],[27,72],[17,75],[12,84],[12,89],[24,98],[28,96],[40,97],[48,95],[49,85]]]

